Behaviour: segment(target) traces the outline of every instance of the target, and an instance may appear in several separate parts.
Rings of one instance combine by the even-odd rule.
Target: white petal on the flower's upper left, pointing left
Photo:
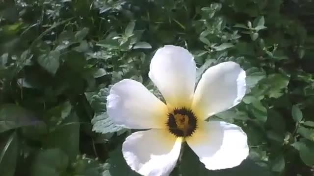
[[[164,128],[167,107],[141,83],[124,79],[110,89],[107,113],[116,125],[127,128]]]

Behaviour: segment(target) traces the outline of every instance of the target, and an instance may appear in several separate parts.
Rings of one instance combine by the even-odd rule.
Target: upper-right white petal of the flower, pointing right
[[[245,71],[234,62],[208,68],[194,93],[192,109],[202,119],[241,102],[246,91]]]

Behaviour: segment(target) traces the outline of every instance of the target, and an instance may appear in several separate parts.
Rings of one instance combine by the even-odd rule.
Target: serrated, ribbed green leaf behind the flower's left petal
[[[91,106],[95,110],[94,118],[91,120],[93,131],[103,134],[117,132],[118,135],[126,132],[126,129],[116,126],[106,112],[106,97],[109,88],[102,88],[91,100]]]

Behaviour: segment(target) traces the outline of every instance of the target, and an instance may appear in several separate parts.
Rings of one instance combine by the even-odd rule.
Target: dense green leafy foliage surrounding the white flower
[[[247,133],[240,166],[208,171],[185,147],[172,176],[314,176],[313,0],[0,0],[0,176],[136,176],[110,86],[142,82],[164,44],[201,73],[235,61],[241,104],[210,120]]]

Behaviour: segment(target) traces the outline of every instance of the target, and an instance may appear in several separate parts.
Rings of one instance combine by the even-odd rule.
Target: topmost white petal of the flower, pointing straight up
[[[167,105],[190,106],[193,98],[196,64],[183,47],[165,45],[151,61],[149,77],[155,83]]]

